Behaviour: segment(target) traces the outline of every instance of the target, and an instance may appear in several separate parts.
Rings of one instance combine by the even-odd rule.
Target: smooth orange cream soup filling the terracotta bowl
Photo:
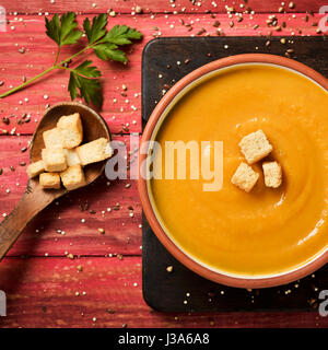
[[[165,117],[155,140],[163,149],[165,141],[210,141],[210,150],[214,141],[222,141],[223,185],[220,190],[203,190],[210,180],[190,179],[188,156],[186,179],[150,180],[156,215],[175,244],[214,270],[248,277],[295,269],[325,252],[327,112],[327,91],[269,65],[236,66],[187,92]],[[253,168],[260,177],[247,194],[231,177],[245,161],[238,142],[258,129],[273,145],[266,160],[281,164],[283,180],[277,189],[266,187],[259,162]],[[163,152],[154,166],[159,164],[165,167]]]

